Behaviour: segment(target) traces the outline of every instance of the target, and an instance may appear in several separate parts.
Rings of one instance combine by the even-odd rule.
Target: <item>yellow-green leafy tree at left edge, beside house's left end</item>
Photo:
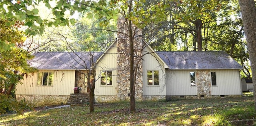
[[[23,79],[24,73],[34,69],[27,63],[27,59],[31,59],[32,55],[20,48],[25,40],[23,32],[18,31],[22,23],[17,21],[14,26],[6,26],[6,22],[8,21],[0,21],[0,40],[5,40],[6,43],[1,44],[5,47],[1,47],[0,53],[0,93],[10,95],[20,79]],[[13,45],[8,46],[10,44]]]

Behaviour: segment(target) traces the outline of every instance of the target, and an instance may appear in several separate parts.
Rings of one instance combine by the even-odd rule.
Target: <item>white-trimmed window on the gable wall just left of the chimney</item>
[[[102,86],[112,85],[112,71],[102,71],[101,72],[100,85],[102,85]]]

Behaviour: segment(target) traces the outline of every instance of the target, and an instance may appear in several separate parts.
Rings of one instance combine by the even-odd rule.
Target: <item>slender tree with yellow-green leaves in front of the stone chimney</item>
[[[124,41],[122,45],[124,45],[126,51],[120,49],[119,55],[126,55],[129,59],[130,111],[135,111],[135,92],[136,84],[138,84],[136,78],[141,71],[138,63],[142,62],[142,50],[149,43],[149,41],[144,41],[144,38],[142,38],[147,33],[142,33],[141,30],[148,25],[154,26],[160,20],[165,19],[165,8],[168,4],[162,0],[156,0],[152,3],[146,0],[112,0],[109,5],[108,9],[118,12],[121,17],[120,20],[122,20],[118,22],[120,27],[116,32],[118,32],[120,41]],[[108,18],[106,18],[106,22],[108,22]],[[126,47],[126,45],[129,46]],[[127,49],[129,50],[127,51]]]

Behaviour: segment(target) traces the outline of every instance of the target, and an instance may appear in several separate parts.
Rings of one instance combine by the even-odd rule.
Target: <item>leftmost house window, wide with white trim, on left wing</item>
[[[38,72],[37,85],[38,86],[52,86],[53,85],[53,72]]]

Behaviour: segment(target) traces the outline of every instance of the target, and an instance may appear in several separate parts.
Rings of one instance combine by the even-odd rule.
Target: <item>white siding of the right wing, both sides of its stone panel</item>
[[[166,70],[166,95],[197,95],[197,88],[190,86],[189,72],[196,70]],[[216,72],[217,86],[212,86],[212,95],[241,95],[238,70],[210,70]]]

